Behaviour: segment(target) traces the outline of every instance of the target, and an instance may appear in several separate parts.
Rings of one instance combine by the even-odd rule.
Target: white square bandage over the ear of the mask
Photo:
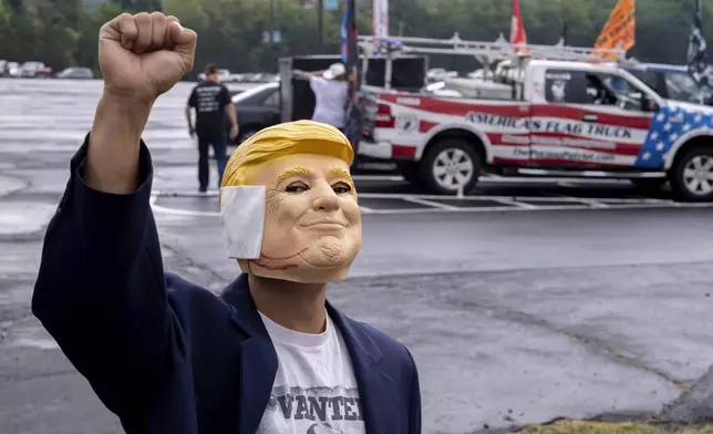
[[[228,258],[259,259],[265,230],[265,186],[220,188],[220,221]]]

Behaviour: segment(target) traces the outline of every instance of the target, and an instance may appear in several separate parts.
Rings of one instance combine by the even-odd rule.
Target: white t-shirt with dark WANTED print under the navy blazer
[[[257,434],[364,434],[351,358],[329,314],[321,334],[260,317],[277,351],[278,370]]]

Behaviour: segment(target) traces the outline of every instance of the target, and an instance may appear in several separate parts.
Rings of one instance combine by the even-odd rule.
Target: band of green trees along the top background
[[[96,69],[100,27],[122,11],[163,10],[198,32],[196,70],[208,62],[236,72],[276,71],[285,55],[339,53],[341,8],[323,13],[323,45],[318,43],[318,11],[297,0],[0,0],[0,53],[13,61],[39,60],[55,69],[85,65]],[[565,20],[568,43],[592,46],[617,0],[523,0],[528,41],[555,44]],[[29,3],[29,2],[27,2]],[[371,33],[371,2],[358,1],[360,34]],[[391,33],[409,37],[495,41],[509,34],[508,0],[391,0]],[[705,34],[713,50],[713,4],[704,8]],[[630,55],[641,61],[683,63],[693,19],[692,1],[639,0],[637,45]],[[662,24],[664,22],[665,24]],[[276,43],[266,32],[280,32]],[[713,51],[712,51],[713,54]],[[713,56],[712,56],[713,59]],[[477,68],[467,56],[431,56],[432,66]]]

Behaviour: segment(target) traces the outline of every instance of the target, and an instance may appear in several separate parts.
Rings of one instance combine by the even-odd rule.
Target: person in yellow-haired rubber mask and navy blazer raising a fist
[[[361,244],[338,130],[281,124],[232,155],[220,219],[242,273],[220,296],[164,272],[141,136],[195,46],[158,12],[102,28],[104,92],[48,226],[33,313],[128,434],[420,433],[410,352],[327,302]]]

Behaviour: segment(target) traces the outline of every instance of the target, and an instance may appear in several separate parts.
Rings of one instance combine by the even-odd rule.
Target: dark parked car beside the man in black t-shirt
[[[239,134],[234,145],[248,140],[255,133],[280,123],[280,83],[270,82],[232,96],[238,114]]]

